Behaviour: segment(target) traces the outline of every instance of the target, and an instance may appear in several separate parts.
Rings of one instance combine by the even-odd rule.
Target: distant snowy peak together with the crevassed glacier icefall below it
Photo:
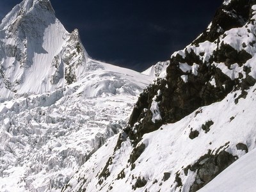
[[[0,191],[60,191],[154,78],[90,58],[50,1],[17,4],[0,24]]]

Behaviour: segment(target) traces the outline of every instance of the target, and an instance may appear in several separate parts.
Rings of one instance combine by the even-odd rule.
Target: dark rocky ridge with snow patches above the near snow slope
[[[254,21],[250,24],[253,19],[249,19],[252,5],[249,6],[251,3],[249,1],[247,3],[243,1],[243,3],[243,15],[238,15],[237,13],[235,18],[239,22],[236,19],[237,22],[234,21],[234,25],[232,25],[233,28],[238,28],[241,33],[241,35],[237,34],[242,37],[239,43],[235,46],[232,46],[232,42],[230,42],[231,45],[228,44],[228,37],[225,31],[229,27],[224,28],[224,26],[218,24],[218,20],[234,17],[229,13],[231,8],[234,7],[232,12],[236,13],[236,8],[241,7],[241,1],[231,1],[230,4],[223,4],[218,9],[216,15],[214,15],[211,28],[207,28],[208,31],[204,31],[184,50],[175,52],[171,56],[170,65],[166,68],[166,76],[156,79],[154,84],[150,84],[145,88],[140,95],[136,104],[137,107],[134,108],[127,127],[127,132],[131,135],[132,140],[136,140],[136,138],[140,140],[143,134],[154,131],[163,124],[177,122],[200,106],[207,106],[224,99],[235,87],[243,91],[248,89],[248,86],[255,84],[255,79],[249,75],[250,68],[243,65],[252,58],[252,54],[255,52],[253,47],[255,36],[252,34]],[[223,13],[225,13],[225,16],[222,16]],[[240,28],[242,20],[247,31],[244,31],[244,28]],[[245,21],[248,21],[249,26]],[[230,24],[230,22],[228,23]],[[216,29],[216,26],[220,26],[221,29]],[[218,31],[221,32],[212,42],[209,41],[211,40],[210,37],[205,37],[204,42],[198,44],[198,40],[202,36],[212,36],[212,33]],[[230,33],[232,33],[232,30]],[[234,33],[231,35],[234,35]],[[249,42],[243,42],[243,36],[246,35],[248,36],[246,40],[249,40]],[[239,67],[243,69],[243,72],[241,71],[237,77],[230,78],[218,67],[218,64],[224,64],[230,70]],[[158,103],[159,114],[161,115],[161,119],[158,119],[154,124],[152,124],[154,113],[149,110],[153,102]],[[148,109],[147,113],[144,112],[144,109]],[[129,131],[129,127],[134,127],[136,122],[140,122],[140,124],[136,125],[136,134],[133,136],[132,132],[134,131]]]

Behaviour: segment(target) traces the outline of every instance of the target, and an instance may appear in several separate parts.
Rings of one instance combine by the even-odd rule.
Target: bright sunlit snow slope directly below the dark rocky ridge
[[[145,134],[138,144],[144,143],[145,149],[134,164],[129,162],[134,150],[131,140],[124,141],[114,152],[118,141],[116,136],[114,141],[93,154],[63,191],[77,191],[79,188],[88,191],[189,191],[196,174],[191,170],[186,172],[185,168],[195,164],[200,157],[205,154],[214,156],[221,150],[236,158],[241,157],[246,152],[238,150],[237,143],[244,143],[248,151],[255,148],[255,88],[250,88],[246,99],[239,99],[238,104],[234,102],[234,95],[239,92],[230,93],[221,102],[200,108],[175,124],[163,125],[161,129]],[[209,121],[214,124],[209,132],[205,132],[202,125]],[[191,140],[191,131],[198,131],[198,137]],[[104,178],[100,173],[104,172],[109,158],[109,176]],[[199,164],[208,159],[201,159]],[[169,175],[169,178],[164,175]],[[182,186],[177,182],[177,175]],[[138,186],[139,178],[145,180],[145,185]]]

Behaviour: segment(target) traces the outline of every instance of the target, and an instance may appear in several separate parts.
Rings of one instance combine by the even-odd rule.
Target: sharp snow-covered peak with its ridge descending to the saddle
[[[123,70],[90,58],[78,30],[68,33],[60,20],[56,19],[50,1],[22,1],[6,15],[0,28],[1,99],[11,99],[14,95],[24,93],[53,92],[68,84],[85,82],[85,78],[109,77],[105,76],[106,71],[111,76],[116,72],[122,74],[122,71],[134,74],[131,70]],[[98,70],[97,76],[92,75],[95,70]],[[126,77],[134,81],[133,75],[128,74]],[[127,93],[116,91],[124,88],[123,86],[131,86],[132,94],[138,94],[141,87],[126,81],[126,77],[124,76],[125,81],[114,87],[108,85],[113,80],[97,79],[95,84],[101,84],[95,86],[97,91],[88,84],[90,88],[86,88],[88,92],[84,94],[95,97],[105,92]],[[120,76],[117,77],[119,78]],[[144,82],[148,82],[152,77],[147,76],[145,79],[147,80]],[[100,90],[103,87],[104,90]]]

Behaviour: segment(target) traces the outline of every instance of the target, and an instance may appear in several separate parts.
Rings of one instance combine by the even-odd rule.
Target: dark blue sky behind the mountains
[[[21,0],[1,0],[0,20]],[[79,33],[97,60],[138,71],[184,49],[223,0],[51,0],[56,17]]]

